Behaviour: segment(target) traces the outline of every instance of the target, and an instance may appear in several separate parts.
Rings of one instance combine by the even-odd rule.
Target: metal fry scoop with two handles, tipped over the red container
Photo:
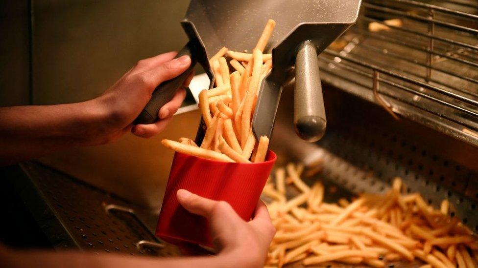
[[[316,141],[327,122],[317,54],[357,20],[359,6],[360,0],[191,0],[181,22],[190,42],[178,57],[192,55],[193,63],[201,63],[214,83],[208,59],[223,46],[235,51],[252,49],[266,21],[273,19],[276,27],[267,46],[273,47],[273,66],[259,91],[253,131],[258,138],[271,137],[282,86],[293,78],[295,69],[295,129],[301,138]],[[186,72],[158,86],[137,123],[157,120],[159,109],[190,70]]]

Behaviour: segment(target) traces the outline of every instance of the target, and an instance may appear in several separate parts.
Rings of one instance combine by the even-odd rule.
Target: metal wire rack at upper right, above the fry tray
[[[365,0],[319,65],[326,82],[478,146],[476,1]]]

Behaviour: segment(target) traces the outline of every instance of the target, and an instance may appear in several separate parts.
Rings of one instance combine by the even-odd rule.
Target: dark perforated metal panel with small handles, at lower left
[[[130,255],[177,255],[177,248],[171,245],[162,248],[141,242],[161,243],[152,232],[156,227],[157,213],[111,196],[46,166],[27,163],[22,167],[29,182],[45,202],[45,211],[51,211],[49,214],[58,220],[53,224],[47,223],[41,217],[43,212],[35,215],[45,232],[48,229],[55,230],[48,237],[53,246],[72,247],[71,243],[65,244],[64,240],[54,238],[55,235],[66,233],[68,241],[72,241],[76,247],[98,254],[117,252]],[[27,205],[35,210],[40,204]],[[138,244],[139,242],[141,243]]]

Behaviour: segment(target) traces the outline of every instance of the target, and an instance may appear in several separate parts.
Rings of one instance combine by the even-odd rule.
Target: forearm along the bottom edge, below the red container
[[[244,257],[247,258],[247,257]],[[178,257],[178,258],[149,258],[120,256],[117,254],[94,255],[83,252],[53,252],[53,251],[12,251],[4,250],[0,254],[0,263],[5,268],[235,268],[254,267],[247,265],[243,260],[227,256]]]

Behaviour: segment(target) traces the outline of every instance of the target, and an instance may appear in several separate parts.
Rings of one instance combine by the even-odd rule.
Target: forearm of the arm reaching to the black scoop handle
[[[105,117],[95,102],[0,108],[0,166],[92,140]]]

